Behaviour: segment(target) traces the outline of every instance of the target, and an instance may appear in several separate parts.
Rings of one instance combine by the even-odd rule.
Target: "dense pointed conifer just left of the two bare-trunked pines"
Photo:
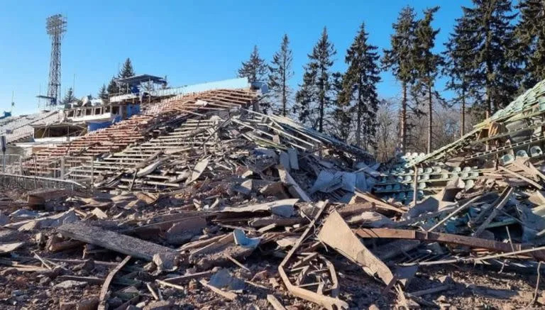
[[[379,105],[376,84],[380,82],[380,56],[377,49],[368,43],[368,33],[362,23],[356,38],[346,51],[348,69],[343,77],[343,90],[339,99],[343,106],[350,106],[354,101],[356,145],[365,149],[376,147],[376,114]]]

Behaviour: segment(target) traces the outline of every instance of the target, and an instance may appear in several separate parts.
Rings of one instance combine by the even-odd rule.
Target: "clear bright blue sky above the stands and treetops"
[[[470,0],[354,1],[24,1],[0,2],[0,112],[37,110],[35,96],[47,92],[50,38],[45,18],[67,16],[62,40],[61,95],[75,84],[76,96],[96,96],[126,57],[137,74],[167,75],[171,86],[229,79],[258,45],[270,60],[284,33],[290,36],[297,87],[307,54],[324,26],[337,50],[335,69],[344,70],[344,55],[360,23],[381,50],[390,44],[392,23],[411,5],[422,16],[441,6],[434,26],[441,28],[436,49],[443,50],[461,5]],[[75,83],[74,83],[75,82]],[[441,84],[441,82],[439,83]],[[399,85],[382,74],[379,94],[397,96]]]

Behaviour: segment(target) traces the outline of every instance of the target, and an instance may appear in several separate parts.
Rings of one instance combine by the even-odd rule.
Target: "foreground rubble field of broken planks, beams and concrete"
[[[541,186],[539,174],[520,174],[525,180],[489,173],[469,191],[451,182],[409,208],[343,189],[337,184],[343,177],[325,186],[316,176],[306,187],[334,191],[309,194],[290,175],[303,175],[302,165],[296,169],[289,155],[290,164],[282,163],[281,153],[268,150],[256,148],[253,161],[248,153],[247,165],[233,160],[236,168],[217,174],[202,173],[209,165],[193,168],[187,185],[172,192],[83,196],[45,189],[28,192],[25,209],[3,204],[0,303],[8,309],[409,309],[452,303],[439,298],[447,291],[510,298],[519,306],[545,302],[531,288],[522,298],[426,274],[446,264],[540,270],[545,247],[535,245],[542,244],[545,196],[532,188]],[[336,167],[334,159],[327,162]],[[361,172],[366,180],[379,174],[367,166]],[[336,191],[351,193],[350,201],[332,202],[345,196],[331,195]],[[312,202],[325,194],[331,201]]]

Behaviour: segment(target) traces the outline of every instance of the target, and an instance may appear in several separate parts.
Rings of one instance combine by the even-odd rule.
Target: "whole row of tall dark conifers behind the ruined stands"
[[[287,35],[270,63],[256,46],[238,73],[251,82],[268,82],[268,111],[374,150],[381,105],[377,84],[380,72],[390,70],[400,82],[398,150],[414,151],[407,138],[414,126],[409,118],[415,116],[424,120],[418,127],[420,131],[425,124],[425,150],[432,152],[444,140],[439,126],[446,122],[441,116],[436,123],[438,111],[459,107],[456,131],[464,135],[469,115],[470,121],[490,116],[545,78],[545,1],[520,0],[513,6],[510,0],[472,0],[461,9],[443,51],[436,43],[440,29],[434,27],[439,6],[420,14],[406,6],[392,23],[390,46],[381,49],[382,55],[361,24],[346,50],[346,72],[334,70],[337,51],[324,27],[307,55],[297,92],[290,89],[294,70]],[[445,89],[437,87],[440,77]],[[447,90],[453,94],[448,100],[441,96]],[[448,126],[451,134],[453,122]]]

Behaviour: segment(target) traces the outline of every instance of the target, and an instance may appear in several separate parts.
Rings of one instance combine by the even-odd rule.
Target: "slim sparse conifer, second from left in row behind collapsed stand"
[[[270,92],[275,99],[280,101],[280,111],[282,116],[287,116],[287,108],[290,101],[291,89],[288,81],[293,77],[292,70],[293,52],[290,50],[290,40],[287,35],[282,38],[280,50],[272,56],[272,62],[269,66],[269,87]]]

